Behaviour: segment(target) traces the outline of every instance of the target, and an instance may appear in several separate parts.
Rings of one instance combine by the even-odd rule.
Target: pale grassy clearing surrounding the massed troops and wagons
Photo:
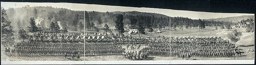
[[[171,31],[170,36],[171,37],[187,37],[187,36],[221,36],[223,39],[227,39],[227,33],[232,32],[231,29],[228,31],[227,29],[223,30],[214,30],[214,27],[208,27],[206,26],[205,29],[199,29],[198,28],[191,28],[191,29],[183,29],[177,30],[177,31]],[[191,59],[184,59],[184,60],[254,60],[254,52],[247,52],[246,49],[252,48],[254,49],[254,32],[245,32],[244,28],[235,28],[237,31],[242,32],[242,36],[240,37],[240,40],[236,42],[236,45],[239,46],[241,49],[240,51],[242,52],[242,55],[240,57],[231,57],[231,58],[209,58],[209,57],[192,57]],[[191,31],[190,31],[191,30]],[[70,31],[69,31],[70,32]],[[80,32],[76,31],[76,32]],[[82,31],[83,32],[83,31]],[[94,32],[92,30],[86,32]],[[100,31],[100,33],[103,33],[104,31]],[[169,37],[169,31],[168,30],[162,30],[163,33],[155,33],[152,32],[152,35],[150,32],[145,31],[146,34],[143,34],[141,38],[157,38],[157,36],[162,36],[164,35],[165,37]],[[37,32],[38,33],[38,32]],[[118,33],[117,31],[113,31],[113,33]],[[125,32],[125,36],[127,35]],[[29,32],[29,34],[33,34]],[[108,32],[108,34],[110,34]],[[15,35],[18,35],[17,33]],[[90,34],[93,36],[93,34]],[[133,37],[138,38],[138,35],[132,35]],[[21,40],[15,40],[16,42],[20,42]],[[233,43],[231,40],[229,40],[230,43]],[[9,47],[13,47],[12,45],[8,45]],[[120,45],[122,47],[126,47],[127,45]],[[136,46],[135,46],[136,47]],[[140,50],[141,48],[145,47],[142,45],[139,49],[135,50]],[[10,60],[10,61],[78,61],[78,60],[71,60],[71,59],[65,59],[63,57],[58,57],[58,56],[44,56],[44,57],[20,57],[20,56],[9,56],[4,54],[4,45],[1,45],[1,61],[5,60]],[[135,51],[134,50],[134,51]],[[130,48],[126,48],[126,51],[133,51]],[[102,55],[102,56],[86,56],[86,57],[81,57],[79,61],[128,61],[129,59],[123,57],[122,55]],[[175,57],[160,57],[160,56],[149,56],[149,59],[147,60],[183,60],[182,58],[175,58]]]

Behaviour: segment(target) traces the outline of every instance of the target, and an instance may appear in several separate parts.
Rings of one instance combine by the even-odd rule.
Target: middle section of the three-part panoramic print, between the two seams
[[[85,7],[85,61],[169,60],[168,9]]]

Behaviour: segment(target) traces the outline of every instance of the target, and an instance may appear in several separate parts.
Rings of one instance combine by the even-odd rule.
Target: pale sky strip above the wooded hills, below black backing
[[[140,11],[151,12],[167,15],[170,17],[187,17],[191,19],[210,19],[210,18],[225,18],[235,17],[242,15],[254,15],[244,13],[211,13],[211,12],[198,12],[198,11],[181,11],[170,9],[157,9],[157,8],[137,8],[137,7],[123,7],[123,6],[109,6],[109,5],[97,5],[97,4],[74,4],[74,3],[28,3],[28,2],[1,2],[1,7],[5,9],[20,8],[29,5],[33,6],[52,6],[57,8],[67,8],[70,10],[79,11],[100,11],[100,12],[112,12],[112,11]]]

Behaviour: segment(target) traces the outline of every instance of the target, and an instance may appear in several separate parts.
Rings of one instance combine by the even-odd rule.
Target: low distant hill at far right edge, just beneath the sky
[[[208,20],[208,21],[227,21],[227,22],[239,22],[243,19],[250,19],[250,18],[254,18],[253,15],[243,15],[243,16],[237,16],[237,17],[227,17],[227,18],[211,18],[211,19],[204,19],[204,20]]]

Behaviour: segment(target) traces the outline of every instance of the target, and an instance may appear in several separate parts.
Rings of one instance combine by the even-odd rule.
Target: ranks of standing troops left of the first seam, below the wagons
[[[17,43],[15,47],[17,54],[19,55],[74,55],[79,57],[80,54],[84,54],[83,44],[77,43],[53,43],[43,41],[29,41]]]

